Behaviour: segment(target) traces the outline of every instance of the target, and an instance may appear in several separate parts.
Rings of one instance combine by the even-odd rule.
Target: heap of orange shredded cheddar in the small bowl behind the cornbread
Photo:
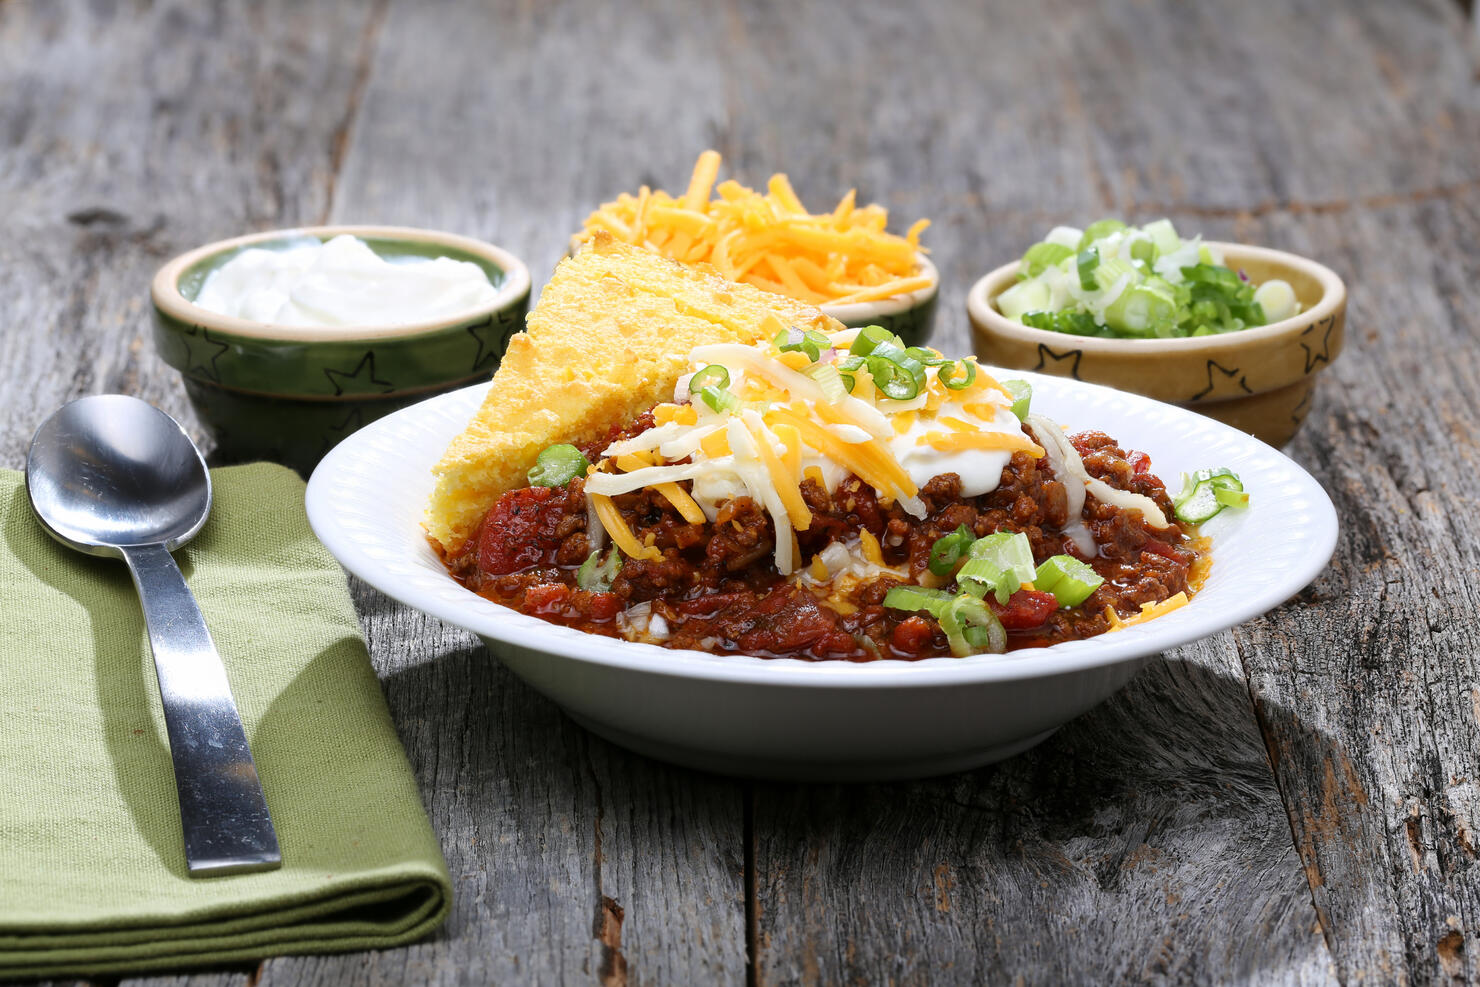
[[[929,287],[916,260],[928,219],[900,237],[885,231],[888,210],[857,206],[854,191],[829,213],[808,213],[786,175],[773,175],[765,194],[734,181],[715,188],[718,176],[719,154],[704,151],[682,197],[647,185],[636,195],[623,192],[591,213],[576,241],[604,229],[684,263],[710,263],[731,281],[814,305],[872,302]]]

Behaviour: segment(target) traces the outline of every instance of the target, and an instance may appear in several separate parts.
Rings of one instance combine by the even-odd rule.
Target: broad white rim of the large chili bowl
[[[380,524],[395,519],[394,515],[400,508],[394,502],[401,497],[411,505],[406,511],[417,521],[422,518],[426,497],[435,482],[431,471],[437,457],[445,441],[457,435],[468,414],[481,404],[490,383],[431,398],[360,429],[330,450],[315,468],[305,491],[305,505],[315,536],[349,573],[394,599],[472,633],[503,645],[556,654],[576,663],[759,687],[934,688],[1042,679],[1110,667],[1200,641],[1257,617],[1294,596],[1329,564],[1339,530],[1336,511],[1320,484],[1279,450],[1233,426],[1143,395],[1040,373],[1012,371],[1012,376],[1024,377],[1035,389],[1057,395],[1057,400],[1074,400],[1085,407],[1119,405],[1120,413],[1135,410],[1163,420],[1171,419],[1177,423],[1175,432],[1183,435],[1183,441],[1190,442],[1190,434],[1196,432],[1199,439],[1206,439],[1212,445],[1228,445],[1237,451],[1239,459],[1246,460],[1246,466],[1270,475],[1268,493],[1276,493],[1277,482],[1280,496],[1257,500],[1246,516],[1220,515],[1205,525],[1203,534],[1214,539],[1215,567],[1218,545],[1224,537],[1230,537],[1234,530],[1246,530],[1257,545],[1265,545],[1257,533],[1274,530],[1267,527],[1271,519],[1291,524],[1298,521],[1292,528],[1296,537],[1289,542],[1299,548],[1299,553],[1289,558],[1277,579],[1262,580],[1248,592],[1240,592],[1222,610],[1209,611],[1206,605],[1197,607],[1194,598],[1193,605],[1154,621],[1040,651],[919,661],[889,658],[864,663],[804,661],[669,650],[551,624],[500,607],[457,585],[426,546],[420,525],[411,531],[401,530],[395,524]],[[404,442],[408,435],[417,439],[411,448]],[[1157,454],[1162,451],[1165,450],[1157,450]],[[382,478],[382,466],[389,462],[397,462],[403,468],[395,490],[376,487],[376,502],[370,512],[345,511],[346,488],[352,490],[357,482],[369,484],[374,478]],[[398,553],[397,539],[401,537],[407,539],[407,545],[414,543],[410,549],[413,555],[425,555],[420,562],[432,573],[425,585],[407,582],[403,579],[404,574],[397,571],[400,564],[417,562]],[[1222,552],[1222,561],[1227,564],[1228,549],[1224,548]]]

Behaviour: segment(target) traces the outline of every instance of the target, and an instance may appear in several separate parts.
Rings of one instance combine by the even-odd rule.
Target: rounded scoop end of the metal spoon
[[[25,481],[50,536],[89,555],[175,550],[210,515],[210,474],[185,429],[121,394],[73,401],[43,422]]]

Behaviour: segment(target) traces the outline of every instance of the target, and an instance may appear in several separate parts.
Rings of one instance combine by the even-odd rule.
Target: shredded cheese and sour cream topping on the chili
[[[848,474],[857,475],[882,502],[897,502],[924,518],[919,488],[929,478],[956,472],[963,496],[977,496],[996,488],[1014,451],[1043,456],[1012,414],[1012,395],[969,358],[969,383],[955,376],[955,386],[947,386],[941,379],[963,370],[966,361],[932,366],[915,397],[895,400],[881,391],[866,366],[848,364],[848,346],[858,330],[826,337],[826,348],[814,358],[781,349],[781,340],[789,331],[799,334],[796,330],[780,321],[765,329],[762,336],[776,330],[773,342],[694,349],[690,361],[696,374],[718,367],[727,371],[722,394],[690,394],[696,374],[682,377],[675,400],[653,410],[654,426],[608,445],[591,469],[591,513],[628,556],[660,555],[651,543],[638,542],[611,500],[635,490],[657,491],[693,524],[715,521],[725,502],[750,497],[771,516],[778,533],[776,568],[789,576],[802,565],[801,552],[795,534],[780,533],[811,525],[801,491],[807,478],[832,493]],[[848,367],[851,391],[818,382],[836,367]],[[679,485],[684,479],[691,490]],[[591,531],[598,527],[591,525]],[[876,542],[866,542],[861,550],[882,562]]]

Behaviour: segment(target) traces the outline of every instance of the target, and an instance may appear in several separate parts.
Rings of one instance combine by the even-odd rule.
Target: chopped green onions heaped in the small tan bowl
[[[1166,219],[1140,228],[1119,219],[1055,226],[1027,249],[1018,283],[996,303],[1023,326],[1119,339],[1212,336],[1299,312],[1288,283],[1252,284]]]

